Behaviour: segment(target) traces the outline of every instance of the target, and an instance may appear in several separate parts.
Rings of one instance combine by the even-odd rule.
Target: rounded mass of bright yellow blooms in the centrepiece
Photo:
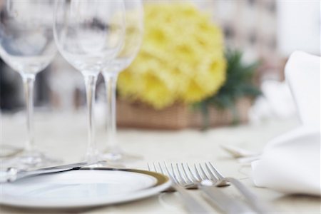
[[[222,31],[193,4],[146,4],[141,51],[118,91],[156,109],[201,101],[225,81],[223,51]]]

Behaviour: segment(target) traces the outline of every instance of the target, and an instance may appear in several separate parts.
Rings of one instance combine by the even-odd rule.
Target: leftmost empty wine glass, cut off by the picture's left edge
[[[56,55],[52,31],[54,4],[51,0],[6,0],[0,1],[0,10],[0,56],[23,79],[27,112],[28,141],[24,151],[9,160],[9,165],[51,165],[56,161],[34,149],[33,93],[36,73],[44,70]]]

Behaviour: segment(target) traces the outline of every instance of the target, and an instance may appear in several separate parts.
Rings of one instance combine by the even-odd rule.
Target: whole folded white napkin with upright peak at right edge
[[[321,195],[320,57],[297,51],[285,74],[302,126],[267,143],[252,163],[253,180],[284,193]]]

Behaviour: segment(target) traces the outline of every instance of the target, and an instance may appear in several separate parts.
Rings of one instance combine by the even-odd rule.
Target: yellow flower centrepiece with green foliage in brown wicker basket
[[[118,78],[118,125],[179,129],[247,121],[249,97],[259,93],[251,83],[257,66],[224,50],[223,32],[208,14],[171,2],[145,5],[141,51]]]

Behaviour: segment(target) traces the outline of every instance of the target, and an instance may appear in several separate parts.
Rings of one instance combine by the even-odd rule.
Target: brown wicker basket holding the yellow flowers
[[[248,121],[248,109],[251,106],[249,98],[242,98],[236,104],[239,121]],[[226,126],[233,123],[233,113],[229,110],[220,111],[209,109],[210,126]],[[201,128],[203,126],[202,114],[193,111],[183,104],[175,104],[161,111],[144,105],[143,103],[130,103],[117,101],[117,124],[120,127],[153,128],[153,129],[182,129]]]

